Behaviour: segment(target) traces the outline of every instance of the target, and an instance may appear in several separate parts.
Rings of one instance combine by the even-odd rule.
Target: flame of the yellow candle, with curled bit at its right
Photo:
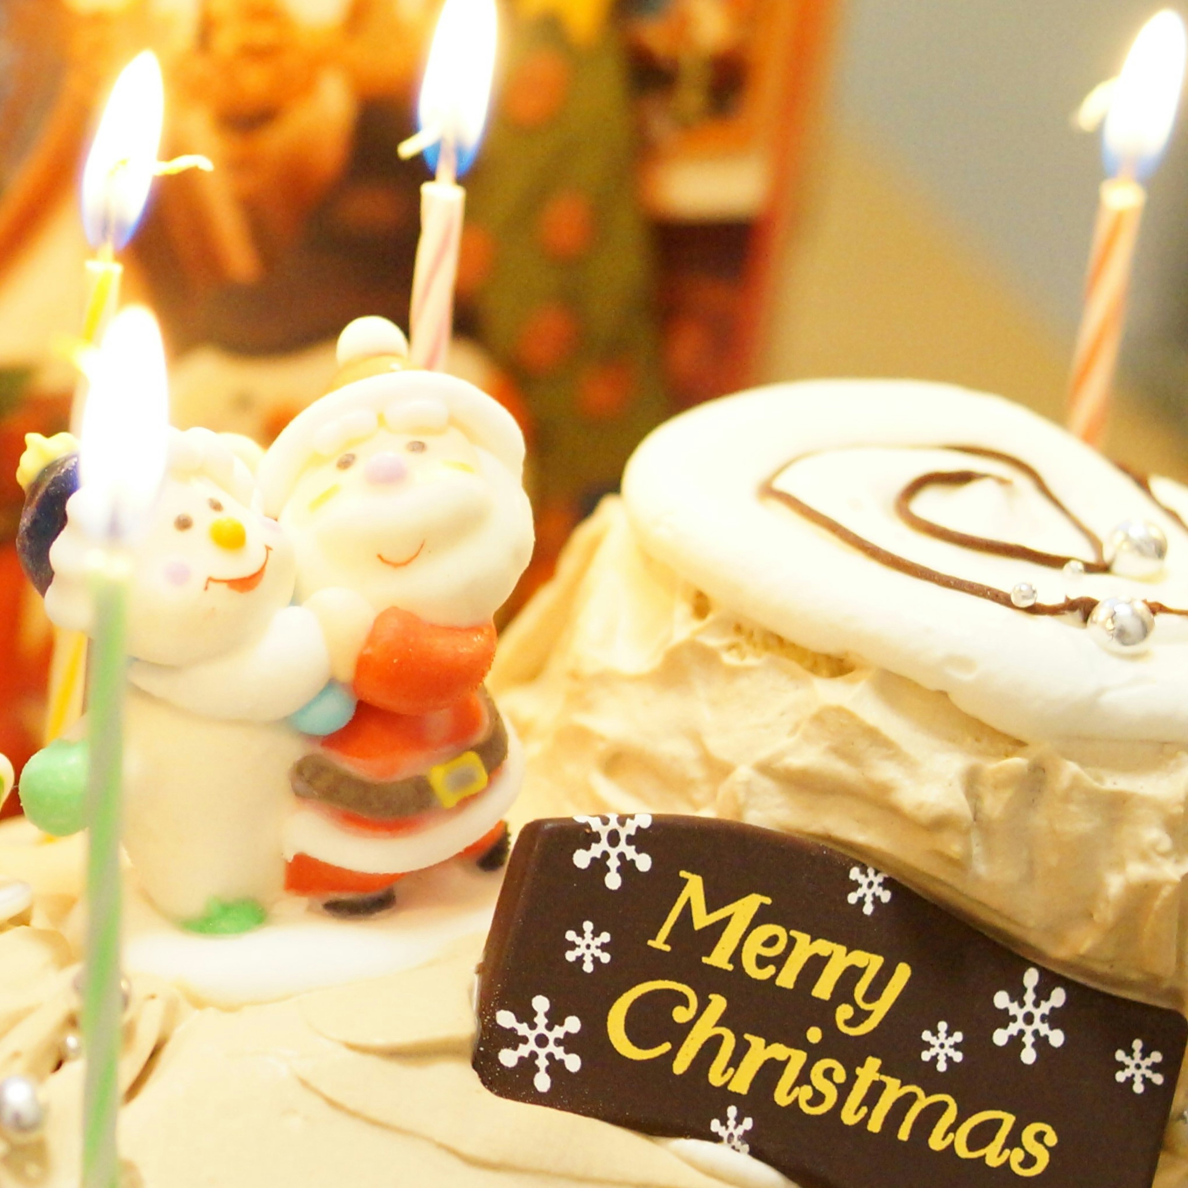
[[[165,88],[151,50],[121,71],[103,108],[82,175],[82,222],[94,248],[119,251],[132,238],[157,169]]]

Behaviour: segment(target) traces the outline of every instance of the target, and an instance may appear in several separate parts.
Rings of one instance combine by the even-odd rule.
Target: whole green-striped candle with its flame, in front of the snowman
[[[116,1188],[115,1120],[124,1013],[120,993],[120,800],[125,632],[132,546],[165,474],[169,398],[153,316],[129,307],[112,321],[83,412],[76,518],[88,558],[94,649],[88,700],[87,934],[82,1037],[83,1188]]]

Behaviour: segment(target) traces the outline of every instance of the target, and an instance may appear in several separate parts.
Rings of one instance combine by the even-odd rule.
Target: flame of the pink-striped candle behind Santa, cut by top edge
[[[446,0],[417,106],[422,132],[437,140],[425,151],[431,168],[442,146],[456,153],[459,175],[474,162],[487,122],[495,40],[495,0]]]

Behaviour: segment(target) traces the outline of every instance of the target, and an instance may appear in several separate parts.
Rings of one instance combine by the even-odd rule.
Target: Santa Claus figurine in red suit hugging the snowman
[[[501,865],[520,783],[482,682],[492,617],[532,552],[524,438],[479,388],[406,356],[391,322],[350,323],[335,388],[258,475],[296,549],[297,596],[358,699],[293,765],[285,830],[286,889],[346,917],[391,908],[411,871],[459,855]],[[315,704],[299,725],[321,734],[318,716]]]

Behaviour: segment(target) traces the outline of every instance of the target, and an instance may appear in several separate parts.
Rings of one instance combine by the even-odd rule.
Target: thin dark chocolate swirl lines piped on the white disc
[[[1035,485],[1036,489],[1041,495],[1060,512],[1063,518],[1073,525],[1074,529],[1085,538],[1088,545],[1088,551],[1092,554],[1089,557],[1078,557],[1073,555],[1063,555],[1059,552],[1044,552],[1040,549],[1028,548],[1025,544],[1015,544],[1010,541],[998,541],[993,537],[974,536],[969,532],[961,532],[956,529],[947,527],[943,524],[937,524],[935,520],[927,519],[925,517],[918,514],[912,510],[912,503],[921,492],[927,491],[929,487],[965,487],[971,482],[978,482],[981,479],[988,479],[993,482],[1000,482],[1009,485],[1011,480],[1001,474],[994,474],[987,470],[930,470],[927,474],[922,474],[916,479],[912,479],[899,492],[896,499],[896,513],[899,518],[909,526],[916,529],[916,531],[930,536],[937,541],[944,541],[949,544],[956,544],[963,549],[972,549],[974,552],[986,552],[993,554],[999,557],[1010,557],[1015,561],[1026,561],[1036,565],[1043,565],[1047,569],[1063,569],[1064,565],[1070,562],[1076,562],[1085,568],[1087,574],[1107,574],[1110,573],[1110,562],[1105,556],[1105,545],[1101,538],[1078,516],[1075,516],[1056,495],[1056,493],[1048,486],[1043,476],[1040,474],[1035,467],[1029,466],[1022,459],[1015,457],[1012,454],[1004,454],[1000,450],[985,449],[981,446],[917,446],[909,447],[915,449],[942,449],[948,450],[954,454],[966,454],[972,457],[985,457],[991,459],[996,462],[1001,462],[1025,478],[1030,479]],[[901,556],[898,552],[892,552],[890,549],[884,549],[881,545],[876,544],[873,541],[868,541],[866,537],[854,532],[852,529],[846,527],[845,524],[839,523],[832,516],[827,516],[823,511],[814,507],[811,504],[805,503],[803,499],[790,494],[786,491],[781,491],[776,487],[776,479],[779,478],[789,467],[795,466],[797,462],[802,462],[808,457],[813,457],[813,454],[801,454],[798,457],[794,457],[791,461],[785,462],[779,467],[769,479],[766,479],[759,487],[760,499],[775,499],[782,503],[785,507],[790,507],[798,516],[816,524],[817,527],[824,529],[824,531],[835,536],[839,541],[848,544],[851,548],[857,549],[859,552],[865,554],[872,561],[879,562],[879,564],[886,565],[889,569],[895,569],[901,574],[906,574],[909,577],[915,577],[918,581],[931,582],[934,586],[940,586],[943,589],[956,590],[959,594],[969,594],[973,598],[985,599],[987,602],[997,602],[999,606],[1010,607],[1012,611],[1022,611],[1024,614],[1036,614],[1036,615],[1075,615],[1082,624],[1086,623],[1089,615],[1093,613],[1093,608],[1098,605],[1098,599],[1089,598],[1088,595],[1081,595],[1080,598],[1064,598],[1060,602],[1032,602],[1030,606],[1019,606],[1011,598],[1010,590],[998,589],[994,586],[986,586],[982,582],[971,581],[966,577],[955,577],[953,574],[941,573],[939,569],[930,569],[928,565],[922,565],[918,562],[911,561],[908,557]],[[1170,507],[1164,506],[1151,491],[1150,481],[1142,475],[1136,475],[1130,470],[1124,469],[1124,473],[1130,478],[1136,486],[1142,489],[1146,497],[1155,504],[1161,511],[1168,514],[1175,523],[1177,523],[1182,529],[1188,532],[1188,525],[1180,518],[1176,512]],[[1180,609],[1177,607],[1165,606],[1163,602],[1155,602],[1151,600],[1145,600],[1151,614],[1177,614],[1188,617],[1188,609]]]

